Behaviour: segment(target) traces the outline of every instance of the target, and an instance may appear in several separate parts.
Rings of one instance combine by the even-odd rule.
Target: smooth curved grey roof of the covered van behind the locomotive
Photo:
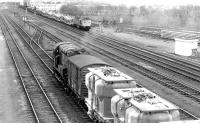
[[[76,65],[78,68],[83,68],[90,65],[107,65],[110,66],[108,63],[104,62],[103,60],[91,56],[91,55],[75,55],[69,58],[69,61]]]

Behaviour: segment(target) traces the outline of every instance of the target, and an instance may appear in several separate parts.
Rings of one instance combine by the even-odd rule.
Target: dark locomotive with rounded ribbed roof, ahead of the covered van
[[[56,77],[59,78],[59,80],[64,80],[64,82],[67,81],[68,58],[85,52],[85,49],[78,47],[71,42],[57,43],[53,50],[53,70]]]

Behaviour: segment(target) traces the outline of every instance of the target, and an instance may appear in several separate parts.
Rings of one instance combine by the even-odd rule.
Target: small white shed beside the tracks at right
[[[193,51],[197,51],[198,39],[175,38],[175,54],[191,56]]]

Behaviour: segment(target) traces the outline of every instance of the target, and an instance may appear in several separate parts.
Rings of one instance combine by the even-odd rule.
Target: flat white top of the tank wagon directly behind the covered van
[[[88,68],[105,82],[133,81],[134,79],[113,67]]]

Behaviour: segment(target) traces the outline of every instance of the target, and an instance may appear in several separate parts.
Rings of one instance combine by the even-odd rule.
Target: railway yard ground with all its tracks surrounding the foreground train
[[[21,8],[1,10],[0,122],[93,122],[54,77],[54,45],[66,41],[178,106],[181,120],[199,119],[199,58],[175,55],[172,40],[106,28],[104,32],[81,31],[30,12],[25,23],[22,15]]]

